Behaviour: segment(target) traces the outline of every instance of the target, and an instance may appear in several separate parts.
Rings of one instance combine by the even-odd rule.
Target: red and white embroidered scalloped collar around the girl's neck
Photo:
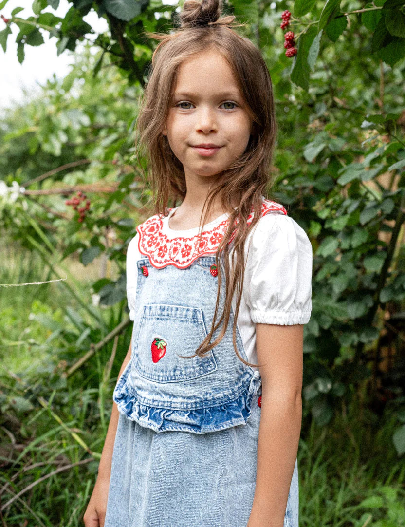
[[[280,211],[287,215],[287,210],[280,203],[263,199],[262,217],[272,211]],[[163,218],[167,218],[167,216]],[[139,233],[139,251],[149,258],[151,265],[156,269],[162,269],[168,265],[185,269],[200,256],[215,254],[228,226],[228,219],[224,219],[211,230],[203,231],[199,243],[199,233],[190,238],[167,237],[162,230],[163,218],[159,214],[155,214],[136,228]],[[253,212],[249,214],[248,225],[252,219]],[[233,237],[234,235],[230,242]]]

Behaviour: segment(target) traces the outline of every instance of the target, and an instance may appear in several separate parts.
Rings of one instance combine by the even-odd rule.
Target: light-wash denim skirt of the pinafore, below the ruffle
[[[160,432],[120,414],[105,527],[246,527],[261,409],[217,432]],[[295,462],[284,527],[298,527]]]

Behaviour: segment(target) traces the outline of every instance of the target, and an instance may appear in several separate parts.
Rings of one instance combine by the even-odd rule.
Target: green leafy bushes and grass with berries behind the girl
[[[0,282],[62,278],[0,287],[6,525],[79,525],[90,495],[130,341],[125,251],[152,213],[133,147],[156,44],[145,32],[176,24],[175,7],[160,0],[75,0],[64,18],[48,8],[57,4],[35,0],[28,19],[14,9],[0,32],[6,51],[18,25],[20,62],[45,33],[58,53],[86,44],[65,79],[0,120]],[[91,8],[107,19],[105,34],[83,21]],[[241,31],[272,77],[279,134],[269,196],[313,246],[301,523],[405,525],[404,3],[234,0],[225,10],[246,22]],[[77,192],[90,200],[82,222],[66,204]]]

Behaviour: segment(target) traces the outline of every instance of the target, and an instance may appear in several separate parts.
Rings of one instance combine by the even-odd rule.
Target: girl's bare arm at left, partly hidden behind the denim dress
[[[121,376],[126,365],[131,360],[131,344],[123,360],[120,373]],[[111,411],[110,424],[108,425],[107,435],[105,437],[103,452],[101,453],[100,465],[98,465],[97,480],[94,485],[93,493],[88,502],[86,512],[84,513],[85,527],[103,527],[105,512],[107,507],[108,487],[110,486],[111,461],[113,457],[115,434],[117,431],[118,417],[117,405],[113,403]]]

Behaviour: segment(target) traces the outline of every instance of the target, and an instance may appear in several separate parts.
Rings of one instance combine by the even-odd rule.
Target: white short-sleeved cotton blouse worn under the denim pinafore
[[[162,233],[167,239],[187,239],[198,235],[199,228],[173,230],[169,220],[176,209],[162,218]],[[207,223],[209,233],[228,216]],[[136,302],[139,233],[129,243],[126,254],[126,291],[130,318],[134,320]],[[255,324],[307,324],[312,309],[312,246],[305,231],[280,211],[262,216],[249,233],[245,245],[245,275],[237,325],[248,361],[257,364]],[[236,298],[232,301],[235,309]],[[255,368],[259,369],[259,368]]]

